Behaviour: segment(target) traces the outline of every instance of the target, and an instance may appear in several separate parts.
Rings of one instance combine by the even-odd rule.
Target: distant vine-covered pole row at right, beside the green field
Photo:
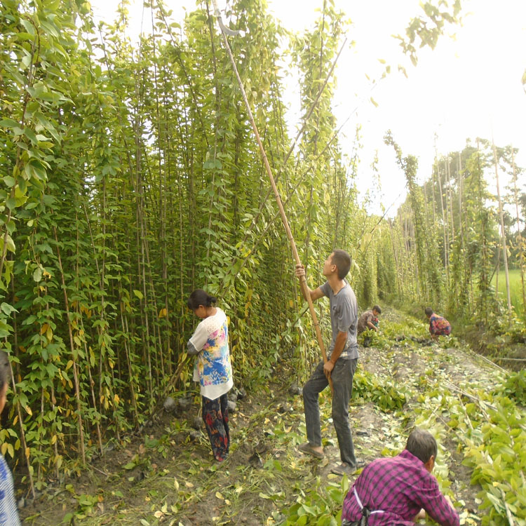
[[[506,313],[492,284],[504,250],[509,253],[504,261],[509,259],[522,279],[526,271],[519,212],[522,208],[524,214],[525,194],[517,183],[524,170],[515,166],[517,149],[497,148],[482,139],[468,142],[462,151],[437,158],[431,175],[419,185],[414,156],[404,157],[390,133],[386,143],[396,150],[408,188],[407,200],[389,222],[398,295],[420,307],[430,302],[454,318],[476,319],[486,328],[521,332],[524,297],[518,311]],[[488,189],[496,170],[511,176],[505,202],[516,210],[516,218],[502,214],[505,236],[499,231],[499,196]]]

